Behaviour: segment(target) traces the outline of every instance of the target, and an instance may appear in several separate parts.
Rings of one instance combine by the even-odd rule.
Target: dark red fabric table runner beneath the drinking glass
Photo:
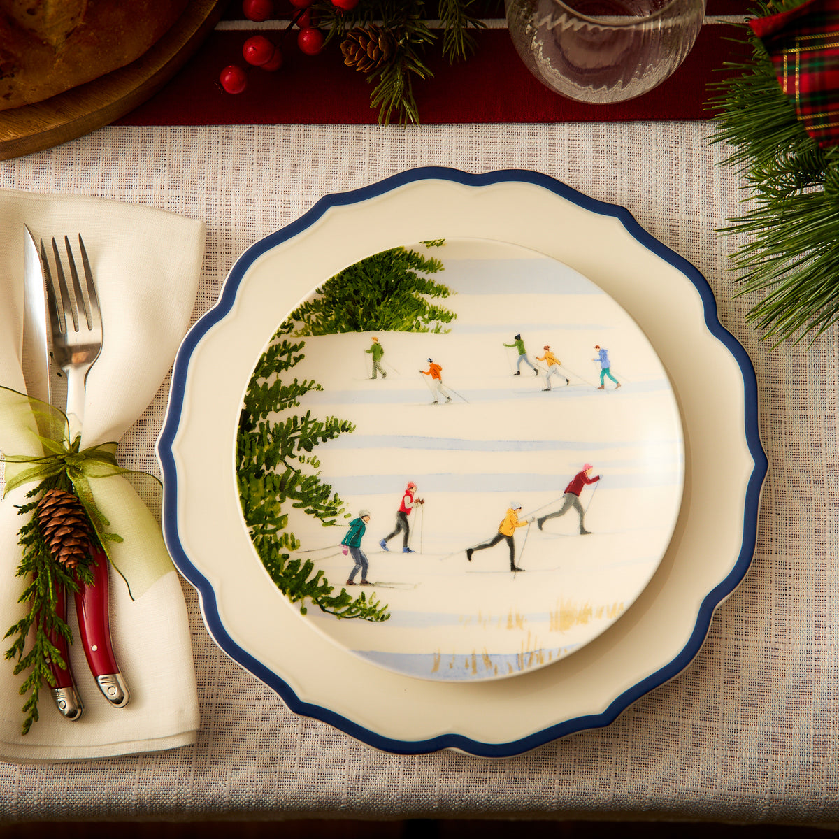
[[[742,0],[711,0],[707,15],[746,11]],[[654,91],[629,102],[587,105],[565,99],[537,81],[519,59],[507,29],[483,29],[476,33],[477,52],[468,60],[450,65],[429,50],[434,77],[416,80],[414,95],[425,124],[707,119],[709,83],[724,77],[728,62],[748,55],[737,43],[741,31],[730,23],[706,21],[685,63]],[[248,66],[242,61],[242,43],[249,34],[253,32],[216,29],[157,96],[117,124],[377,122],[377,112],[370,108],[372,86],[364,74],[345,66],[334,44],[315,57],[302,55],[296,49],[295,29],[268,33],[286,47],[278,72],[248,67],[248,89],[237,96],[223,92],[217,81],[221,68]]]

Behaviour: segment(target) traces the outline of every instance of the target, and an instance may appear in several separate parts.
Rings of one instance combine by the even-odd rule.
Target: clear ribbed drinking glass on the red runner
[[[505,0],[510,37],[539,81],[580,102],[652,90],[690,52],[705,0]]]

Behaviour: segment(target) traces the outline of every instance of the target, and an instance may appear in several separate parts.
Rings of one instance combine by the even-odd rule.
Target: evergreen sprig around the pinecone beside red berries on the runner
[[[441,53],[451,62],[465,59],[476,49],[470,30],[484,26],[473,13],[476,4],[477,0],[440,0],[437,4],[443,32]],[[390,60],[367,74],[367,81],[374,85],[370,105],[378,110],[378,122],[384,125],[394,118],[401,123],[420,122],[414,78],[425,80],[434,75],[425,63],[425,52],[440,39],[429,26],[428,6],[425,0],[360,0],[352,11],[343,12],[322,0],[311,7],[319,25],[328,30],[327,43],[342,41],[351,29],[371,23],[393,33],[396,49]]]

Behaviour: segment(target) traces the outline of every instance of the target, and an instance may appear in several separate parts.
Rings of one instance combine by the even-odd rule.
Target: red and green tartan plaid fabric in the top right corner
[[[839,143],[839,0],[809,0],[748,25],[810,137],[823,147]]]

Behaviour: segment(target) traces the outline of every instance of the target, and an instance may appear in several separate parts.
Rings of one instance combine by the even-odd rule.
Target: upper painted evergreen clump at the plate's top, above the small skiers
[[[445,240],[423,242],[440,248]],[[454,312],[430,300],[451,295],[431,279],[444,269],[440,259],[409,248],[390,248],[362,259],[326,280],[312,300],[289,315],[295,335],[336,332],[441,332]]]

